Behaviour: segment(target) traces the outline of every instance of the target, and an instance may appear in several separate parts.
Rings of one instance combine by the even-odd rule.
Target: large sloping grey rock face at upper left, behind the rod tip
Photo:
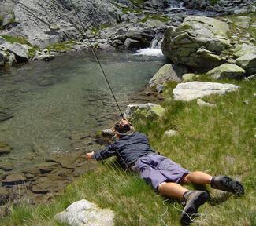
[[[9,0],[8,0],[9,1]],[[121,10],[109,0],[20,0],[13,1],[17,26],[6,31],[6,35],[23,36],[33,46],[44,47],[54,42],[79,38],[84,27],[97,27],[99,24],[116,24]],[[2,4],[2,3],[1,3]],[[76,10],[79,18],[77,18]]]

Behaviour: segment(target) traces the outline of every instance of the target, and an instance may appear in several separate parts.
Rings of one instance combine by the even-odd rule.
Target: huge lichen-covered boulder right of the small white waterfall
[[[217,67],[224,63],[221,53],[230,47],[229,26],[205,16],[187,16],[183,24],[169,28],[161,49],[175,63],[192,67]]]

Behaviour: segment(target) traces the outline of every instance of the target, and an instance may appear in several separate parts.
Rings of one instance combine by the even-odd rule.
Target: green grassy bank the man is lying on
[[[165,116],[135,122],[135,128],[147,133],[155,150],[187,169],[228,174],[243,181],[246,195],[242,198],[209,189],[211,199],[200,209],[200,222],[192,225],[256,225],[256,82],[229,82],[241,86],[239,91],[204,98],[217,108],[171,100],[170,84],[163,103]],[[178,135],[164,137],[168,129],[176,129]],[[54,214],[80,199],[114,210],[118,226],[180,225],[180,202],[154,193],[143,180],[124,173],[111,159],[69,185],[65,194],[50,204],[13,207],[0,225],[63,225],[53,220]]]

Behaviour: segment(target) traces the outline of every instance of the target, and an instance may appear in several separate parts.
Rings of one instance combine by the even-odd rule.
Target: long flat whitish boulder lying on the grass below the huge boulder
[[[213,94],[225,94],[239,89],[233,84],[215,82],[186,82],[180,83],[173,89],[174,100],[190,101]]]

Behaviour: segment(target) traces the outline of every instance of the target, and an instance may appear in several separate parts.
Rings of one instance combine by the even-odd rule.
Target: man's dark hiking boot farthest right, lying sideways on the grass
[[[243,185],[239,181],[232,180],[228,176],[213,177],[213,179],[210,181],[210,186],[222,191],[232,192],[235,195],[244,194]]]

